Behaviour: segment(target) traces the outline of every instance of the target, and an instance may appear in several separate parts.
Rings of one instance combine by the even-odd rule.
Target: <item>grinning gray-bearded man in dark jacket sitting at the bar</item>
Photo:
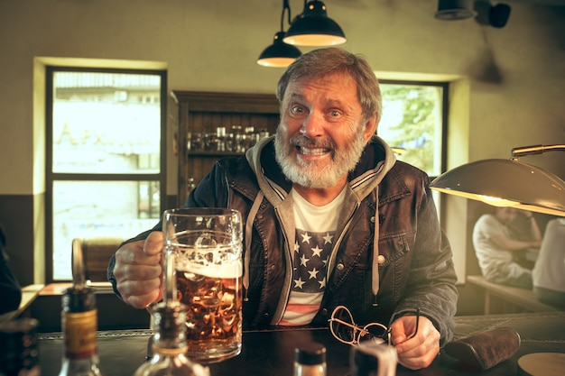
[[[428,176],[375,136],[382,99],[373,69],[347,50],[311,50],[283,73],[277,97],[276,134],[219,160],[185,204],[242,213],[244,328],[327,327],[343,305],[359,324],[390,326],[401,364],[427,367],[452,338],[457,277]],[[134,307],[162,296],[161,229],[122,245],[108,265]],[[324,272],[304,292],[292,280],[310,235]]]

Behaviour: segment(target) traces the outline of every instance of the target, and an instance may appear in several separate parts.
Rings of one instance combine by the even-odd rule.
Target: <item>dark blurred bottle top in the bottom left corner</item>
[[[39,376],[37,325],[31,317],[0,324],[0,376]]]

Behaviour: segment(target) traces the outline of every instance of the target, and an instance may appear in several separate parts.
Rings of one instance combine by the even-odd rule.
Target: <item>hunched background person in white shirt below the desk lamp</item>
[[[518,216],[529,222],[527,240],[518,240],[510,225]],[[473,229],[473,246],[483,277],[490,282],[532,289],[532,271],[514,262],[514,252],[539,247],[542,233],[532,213],[513,207],[496,207],[496,213],[478,218]]]

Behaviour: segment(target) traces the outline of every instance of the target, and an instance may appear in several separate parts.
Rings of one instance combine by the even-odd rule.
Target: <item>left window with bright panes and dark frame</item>
[[[165,199],[166,72],[47,68],[48,282],[70,280],[74,238],[129,238]]]

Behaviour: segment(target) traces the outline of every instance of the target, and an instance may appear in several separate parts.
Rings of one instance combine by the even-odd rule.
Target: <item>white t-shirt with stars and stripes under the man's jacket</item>
[[[292,254],[292,288],[281,326],[310,324],[318,313],[328,278],[329,255],[338,227],[345,189],[325,206],[314,206],[292,189],[296,236]]]

